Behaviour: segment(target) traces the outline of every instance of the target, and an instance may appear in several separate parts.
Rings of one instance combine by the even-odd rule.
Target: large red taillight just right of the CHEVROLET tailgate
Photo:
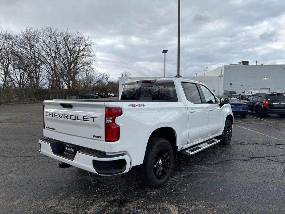
[[[116,117],[122,113],[121,108],[105,109],[105,141],[114,142],[120,139],[120,126],[116,124]]]

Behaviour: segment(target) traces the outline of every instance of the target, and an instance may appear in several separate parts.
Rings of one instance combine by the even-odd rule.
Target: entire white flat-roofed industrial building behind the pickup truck
[[[183,71],[181,73],[183,75]],[[120,77],[119,92],[125,81],[158,78],[163,77]],[[222,95],[225,91],[242,93],[246,90],[285,93],[285,65],[249,65],[248,61],[242,61],[223,65],[198,76],[181,78],[203,82],[215,95]]]

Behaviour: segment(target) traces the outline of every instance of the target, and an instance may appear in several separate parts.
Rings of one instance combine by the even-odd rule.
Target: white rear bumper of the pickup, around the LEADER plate
[[[107,155],[104,152],[76,147],[75,156],[65,155],[59,150],[56,140],[39,139],[40,152],[71,166],[92,172],[96,175],[110,176],[126,173],[130,169],[131,160],[127,154]]]

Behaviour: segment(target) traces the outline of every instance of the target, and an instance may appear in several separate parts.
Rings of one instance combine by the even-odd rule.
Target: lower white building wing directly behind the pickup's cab
[[[121,92],[123,85],[128,79],[130,80],[151,80],[151,79],[159,79],[163,77],[119,77],[119,93]],[[189,77],[181,77],[183,79],[200,81],[206,84],[215,95],[223,94],[223,82],[224,78],[222,76],[189,76]]]

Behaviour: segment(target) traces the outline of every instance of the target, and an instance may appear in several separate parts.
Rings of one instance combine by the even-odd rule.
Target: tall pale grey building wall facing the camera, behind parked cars
[[[223,86],[237,93],[253,89],[285,93],[285,65],[225,65]]]

